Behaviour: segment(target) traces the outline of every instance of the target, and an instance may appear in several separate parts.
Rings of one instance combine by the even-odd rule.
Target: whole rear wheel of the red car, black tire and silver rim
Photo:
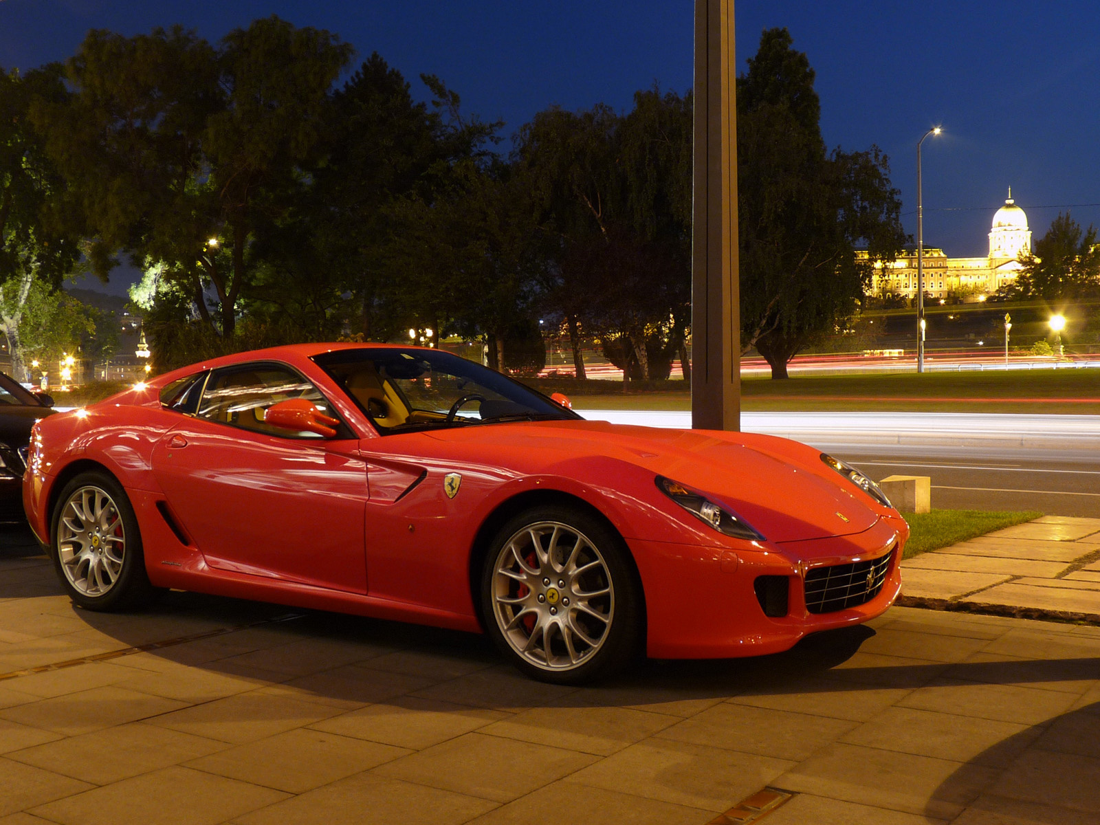
[[[163,593],[148,581],[130,498],[109,473],[88,471],[69,481],[57,496],[50,528],[54,570],[80,607],[132,609]]]

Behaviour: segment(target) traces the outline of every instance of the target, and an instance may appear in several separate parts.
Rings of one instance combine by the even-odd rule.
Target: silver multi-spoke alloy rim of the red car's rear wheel
[[[101,487],[73,491],[57,522],[57,554],[69,584],[84,596],[110,592],[122,574],[127,536],[122,516]]]

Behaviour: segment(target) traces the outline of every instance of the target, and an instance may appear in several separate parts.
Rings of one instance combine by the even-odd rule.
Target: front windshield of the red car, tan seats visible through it
[[[314,361],[382,435],[580,418],[519,382],[439,350],[371,346]]]

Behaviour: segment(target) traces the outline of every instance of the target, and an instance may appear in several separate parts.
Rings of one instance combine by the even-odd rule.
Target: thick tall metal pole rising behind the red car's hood
[[[734,0],[695,0],[692,427],[740,429]]]

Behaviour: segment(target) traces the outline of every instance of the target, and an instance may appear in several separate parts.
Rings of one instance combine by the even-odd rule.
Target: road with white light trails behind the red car
[[[578,411],[618,424],[691,426],[689,413]],[[813,444],[876,480],[931,476],[934,507],[1100,517],[1100,416],[744,413],[741,426]]]

